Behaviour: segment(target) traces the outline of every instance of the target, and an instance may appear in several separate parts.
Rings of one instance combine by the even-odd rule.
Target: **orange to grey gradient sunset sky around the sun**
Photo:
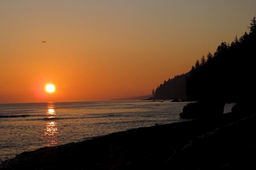
[[[148,95],[248,31],[255,9],[255,0],[1,0],[0,103]]]

